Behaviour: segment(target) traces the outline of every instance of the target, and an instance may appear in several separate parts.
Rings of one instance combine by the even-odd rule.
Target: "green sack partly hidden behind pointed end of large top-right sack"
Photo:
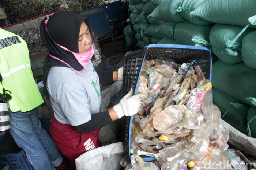
[[[191,15],[191,12],[196,9],[205,0],[182,0],[180,6],[178,7],[178,12],[180,12],[183,20],[190,21],[197,25],[210,25],[212,22],[204,20],[195,15]]]

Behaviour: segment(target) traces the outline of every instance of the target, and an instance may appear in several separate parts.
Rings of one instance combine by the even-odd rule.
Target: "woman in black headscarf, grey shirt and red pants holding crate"
[[[102,127],[138,112],[139,95],[133,95],[131,89],[117,105],[101,112],[99,83],[122,80],[123,70],[95,71],[87,17],[56,12],[42,20],[40,30],[49,50],[44,63],[44,92],[48,90],[54,110],[50,133],[61,153],[75,165],[80,155],[102,146],[98,137]]]

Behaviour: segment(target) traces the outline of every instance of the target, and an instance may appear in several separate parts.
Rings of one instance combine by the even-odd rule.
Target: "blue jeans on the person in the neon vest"
[[[42,129],[37,108],[24,113],[10,112],[10,133],[35,170],[55,170],[63,161],[52,138]]]

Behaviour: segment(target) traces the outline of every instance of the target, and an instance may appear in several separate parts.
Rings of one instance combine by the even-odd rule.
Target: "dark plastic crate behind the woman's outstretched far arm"
[[[101,63],[99,63],[97,69],[103,70],[103,71],[117,71],[120,67],[124,66],[124,56],[123,55],[117,55],[117,56],[111,56],[107,57],[102,60]],[[104,82],[101,85],[111,85],[114,82]]]

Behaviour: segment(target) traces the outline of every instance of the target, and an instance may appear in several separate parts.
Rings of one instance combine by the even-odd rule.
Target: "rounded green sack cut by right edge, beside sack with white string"
[[[242,39],[241,54],[246,66],[256,70],[256,31],[248,33]]]

